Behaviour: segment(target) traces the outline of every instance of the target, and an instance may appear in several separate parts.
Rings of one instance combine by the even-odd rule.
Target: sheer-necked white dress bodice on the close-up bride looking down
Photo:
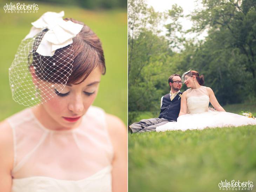
[[[45,128],[31,108],[7,119],[13,130],[12,192],[111,192],[113,146],[105,112],[91,106],[72,130]]]

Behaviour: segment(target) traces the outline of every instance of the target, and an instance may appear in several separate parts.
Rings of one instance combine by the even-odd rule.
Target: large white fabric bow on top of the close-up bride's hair
[[[60,13],[46,12],[38,20],[31,23],[33,27],[25,39],[34,37],[43,29],[49,29],[36,49],[40,55],[53,56],[55,50],[73,43],[72,39],[82,30],[83,25],[64,21],[63,16],[64,11]]]

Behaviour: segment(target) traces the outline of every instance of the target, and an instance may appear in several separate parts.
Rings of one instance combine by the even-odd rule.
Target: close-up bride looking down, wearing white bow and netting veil
[[[32,22],[9,68],[14,101],[0,123],[1,192],[127,192],[127,131],[93,106],[106,72],[99,37],[64,12]]]

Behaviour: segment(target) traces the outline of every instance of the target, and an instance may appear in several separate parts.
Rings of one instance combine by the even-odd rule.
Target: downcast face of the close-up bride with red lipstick
[[[98,66],[82,83],[67,84],[60,92],[55,90],[56,96],[43,103],[47,114],[61,127],[78,126],[97,95],[101,73]]]

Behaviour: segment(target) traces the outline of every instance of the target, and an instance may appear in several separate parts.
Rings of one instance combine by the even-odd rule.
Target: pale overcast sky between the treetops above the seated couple
[[[195,0],[146,0],[149,6],[152,6],[155,11],[164,12],[171,9],[171,6],[177,4],[181,6],[183,9],[184,16],[190,14],[194,11],[194,9],[202,8]],[[187,30],[190,29],[193,23],[188,19],[181,19],[180,20],[183,29]],[[195,36],[195,34],[188,35],[187,37]],[[207,32],[204,32],[202,35],[198,36],[198,39],[204,39],[204,36],[207,36]]]

